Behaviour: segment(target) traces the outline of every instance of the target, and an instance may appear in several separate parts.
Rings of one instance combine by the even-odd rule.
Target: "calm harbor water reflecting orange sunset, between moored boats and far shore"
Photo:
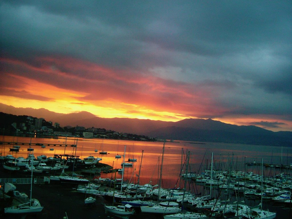
[[[77,141],[78,140],[78,141]],[[121,168],[123,157],[115,158],[117,154],[124,154],[124,146],[126,145],[125,160],[128,158],[135,158],[138,161],[133,162],[133,166],[126,166],[124,171],[124,179],[133,183],[137,183],[140,168],[140,161],[142,159],[140,170],[140,184],[150,183],[152,185],[159,184],[160,168],[162,163],[163,142],[144,142],[144,141],[129,141],[129,140],[109,140],[109,139],[83,139],[83,138],[27,138],[27,137],[13,137],[4,136],[4,142],[18,142],[20,145],[19,152],[11,152],[9,148],[13,146],[4,144],[0,149],[2,156],[12,154],[14,157],[27,157],[27,145],[20,143],[44,144],[46,147],[40,145],[32,146],[34,148],[34,156],[45,154],[48,157],[54,154],[75,154],[75,147],[71,145],[77,144],[76,155],[80,158],[92,155],[94,157],[102,158],[101,163],[108,164],[114,168]],[[66,144],[67,147],[59,146]],[[48,145],[49,144],[49,145]],[[50,150],[53,148],[54,150]],[[98,150],[98,152],[95,152]],[[107,151],[108,154],[99,154],[99,151]],[[142,156],[143,151],[143,156]],[[227,170],[227,162],[232,163],[233,170],[239,171],[253,171],[261,174],[260,166],[246,166],[244,163],[257,162],[266,164],[283,164],[290,165],[292,163],[292,148],[288,147],[272,147],[272,146],[258,146],[258,145],[242,145],[242,144],[226,144],[226,143],[212,143],[212,142],[183,142],[174,141],[165,142],[163,168],[162,168],[162,186],[165,188],[183,187],[184,180],[180,180],[180,168],[183,160],[185,160],[187,152],[190,152],[189,170],[196,173],[202,173],[210,165],[211,156],[213,152],[213,168],[221,168]],[[183,168],[185,170],[185,167]],[[273,176],[277,173],[290,174],[290,169],[281,168],[263,168],[265,176]],[[114,178],[113,173],[101,173],[96,175],[96,178]],[[116,178],[121,178],[122,174],[117,173]],[[192,192],[202,195],[209,194],[210,191],[204,189],[202,186],[193,185],[191,181],[187,183],[187,188]],[[242,199],[242,197],[240,198]],[[258,201],[251,200],[250,205],[256,205]],[[285,208],[273,206],[269,204],[271,211],[277,211],[278,215],[286,215]],[[279,217],[277,217],[279,218]],[[283,217],[282,217],[283,218]],[[284,217],[285,218],[285,217]]]

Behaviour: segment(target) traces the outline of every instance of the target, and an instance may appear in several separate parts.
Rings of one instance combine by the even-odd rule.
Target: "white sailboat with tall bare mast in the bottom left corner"
[[[32,171],[33,172],[33,171]],[[41,206],[39,200],[32,199],[32,175],[30,180],[30,201],[17,206],[4,208],[4,213],[23,214],[41,212],[44,207]]]

